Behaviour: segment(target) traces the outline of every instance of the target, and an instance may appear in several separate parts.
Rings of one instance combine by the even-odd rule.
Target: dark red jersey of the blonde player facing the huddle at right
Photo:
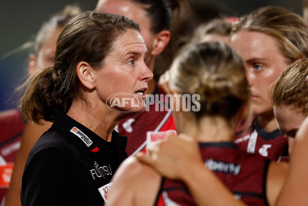
[[[255,118],[252,125],[245,130],[243,123],[237,126],[235,144],[242,150],[251,154],[259,154],[273,161],[287,161],[287,138],[279,130],[266,132]]]

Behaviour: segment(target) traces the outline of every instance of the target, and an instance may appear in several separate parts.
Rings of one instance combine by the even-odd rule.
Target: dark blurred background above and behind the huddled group
[[[49,16],[65,5],[76,4],[83,11],[93,10],[98,0],[0,0],[0,111],[16,108],[14,88],[23,82],[27,74],[29,50],[14,49],[32,40]],[[190,0],[196,5],[192,10],[201,13],[207,21],[218,13],[240,16],[252,10],[273,5],[281,6],[302,16],[302,0]],[[191,31],[187,29],[187,31]]]

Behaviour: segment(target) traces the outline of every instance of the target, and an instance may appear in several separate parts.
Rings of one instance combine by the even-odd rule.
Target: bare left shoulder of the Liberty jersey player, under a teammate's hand
[[[153,205],[161,185],[161,175],[135,157],[127,158],[115,172],[107,206]]]

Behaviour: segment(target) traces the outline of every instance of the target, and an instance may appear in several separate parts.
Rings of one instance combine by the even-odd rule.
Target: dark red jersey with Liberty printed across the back
[[[265,187],[269,160],[244,153],[232,142],[200,143],[200,151],[204,164],[235,198],[248,205],[268,205]],[[196,203],[183,182],[163,178],[155,205],[188,206]]]

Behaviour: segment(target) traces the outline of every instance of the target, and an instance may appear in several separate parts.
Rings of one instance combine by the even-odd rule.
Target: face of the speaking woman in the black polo
[[[147,82],[153,77],[144,63],[146,53],[144,40],[136,30],[128,29],[114,41],[113,49],[106,56],[103,68],[94,71],[98,77],[95,80],[96,91],[103,102],[116,93],[131,93],[143,101],[142,109],[138,112],[145,110]],[[125,98],[132,96],[128,95]],[[123,102],[121,98],[124,96],[117,97]]]

